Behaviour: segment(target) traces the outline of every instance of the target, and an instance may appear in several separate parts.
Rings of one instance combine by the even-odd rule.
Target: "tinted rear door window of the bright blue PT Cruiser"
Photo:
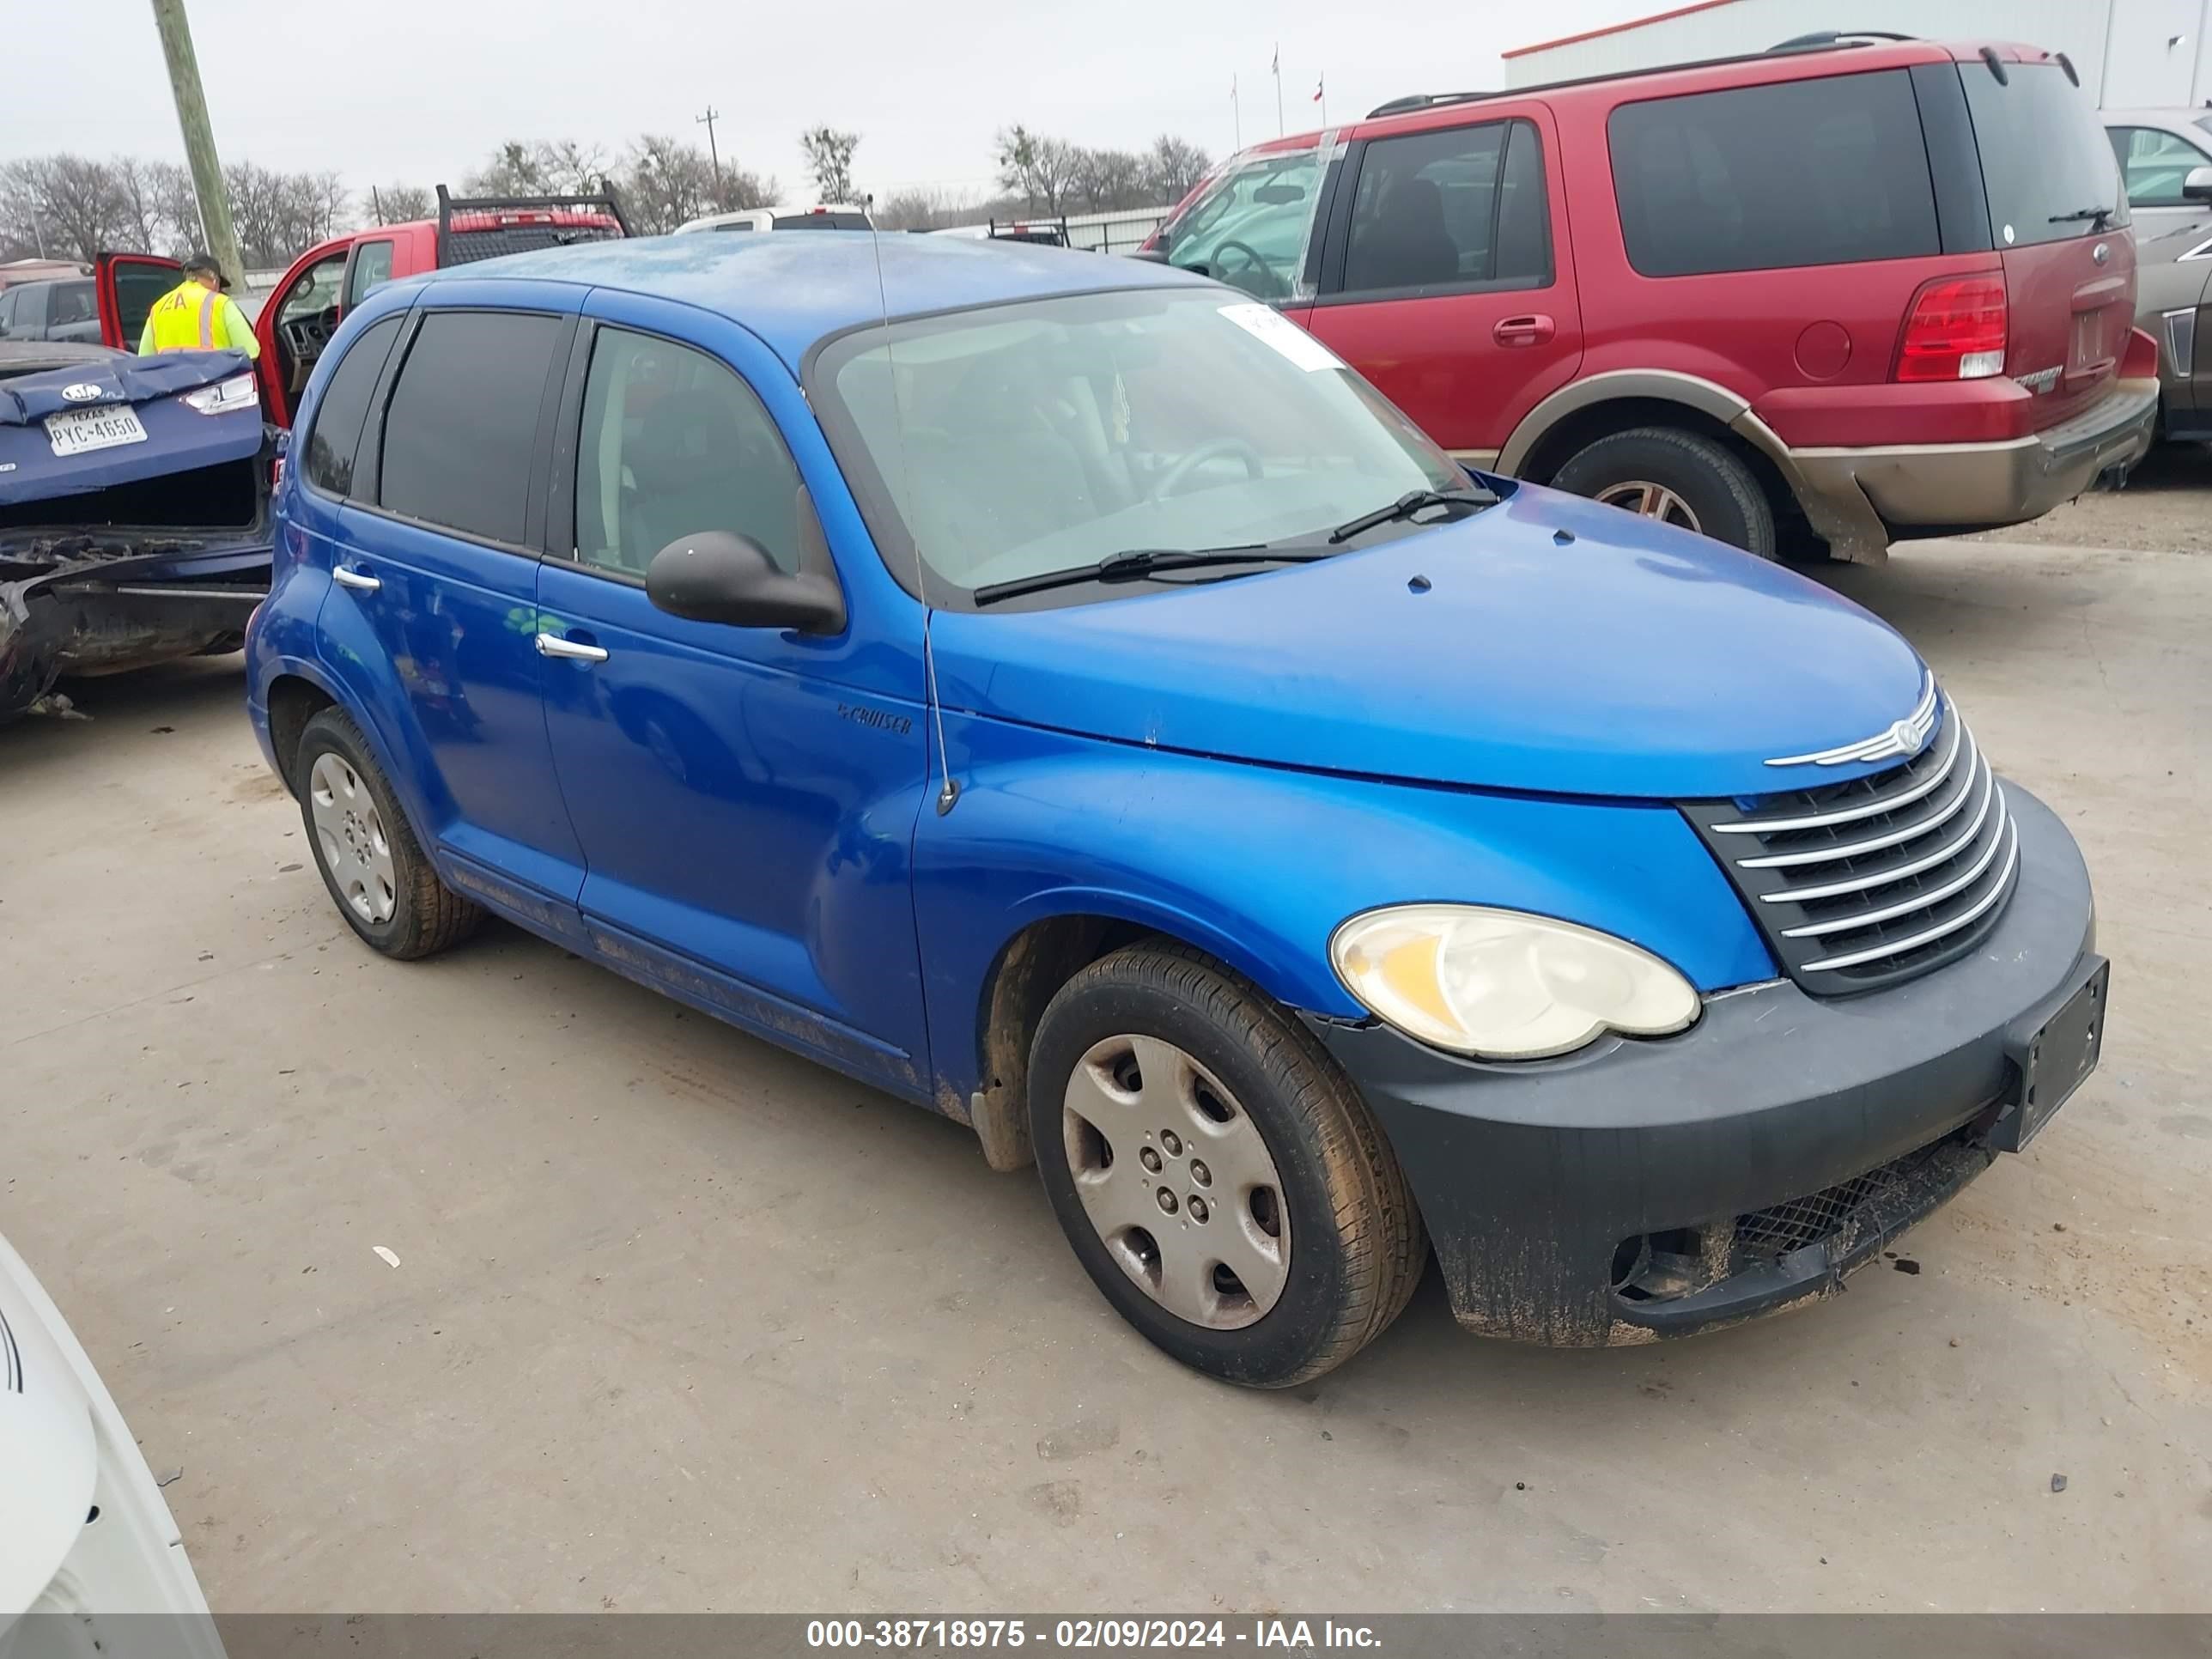
[[[535,312],[429,312],[385,405],[383,509],[520,546],[557,338]]]

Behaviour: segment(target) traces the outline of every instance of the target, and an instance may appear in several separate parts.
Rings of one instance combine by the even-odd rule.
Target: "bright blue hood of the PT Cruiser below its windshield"
[[[1646,799],[1803,787],[1765,761],[1869,737],[1920,699],[1913,648],[1849,599],[1688,531],[1493,482],[1511,493],[1489,511],[1318,564],[940,611],[938,695],[1234,761]]]

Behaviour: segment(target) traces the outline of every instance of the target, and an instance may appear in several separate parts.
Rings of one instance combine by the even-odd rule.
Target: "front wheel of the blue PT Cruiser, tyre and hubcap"
[[[1179,945],[1130,945],[1060,989],[1029,1115],[1091,1281],[1199,1371],[1316,1378],[1405,1310],[1427,1263],[1367,1104],[1283,1009]]]

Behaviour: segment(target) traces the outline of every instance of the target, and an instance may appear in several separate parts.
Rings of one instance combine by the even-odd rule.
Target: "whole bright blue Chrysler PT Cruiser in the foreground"
[[[493,911],[1035,1164],[1237,1383],[1834,1292],[2095,1066],[2073,838],[1774,564],[1473,476],[1190,272],[677,237],[376,292],[250,710],[332,900]]]

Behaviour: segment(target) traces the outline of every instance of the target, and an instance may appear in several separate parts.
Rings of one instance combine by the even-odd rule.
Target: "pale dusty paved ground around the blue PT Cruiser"
[[[1834,582],[2115,960],[2104,1068],[1918,1274],[1606,1354],[1431,1276],[1316,1387],[1208,1383],[967,1130],[502,927],[369,956],[234,659],[0,732],[0,1230],[221,1610],[2212,1608],[2212,560]]]

